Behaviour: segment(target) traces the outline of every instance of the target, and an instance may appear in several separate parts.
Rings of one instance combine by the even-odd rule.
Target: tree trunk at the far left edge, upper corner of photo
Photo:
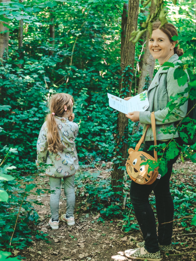
[[[0,0],[1,3],[6,3],[8,0]],[[9,42],[9,29],[5,26],[8,23],[0,23],[0,58],[7,60],[8,56],[8,42]]]

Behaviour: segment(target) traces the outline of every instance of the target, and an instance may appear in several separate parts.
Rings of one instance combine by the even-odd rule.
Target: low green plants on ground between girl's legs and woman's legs
[[[95,166],[95,162],[91,163],[91,168]],[[98,222],[105,223],[106,220],[112,222],[114,218],[122,218],[123,222],[120,222],[120,226],[125,232],[139,229],[130,210],[131,203],[128,201],[126,208],[123,208],[120,192],[114,192],[111,187],[111,178],[100,176],[100,171],[85,170],[86,167],[83,165],[84,170],[76,174],[76,191],[80,196],[81,204],[85,205],[87,210],[100,212],[101,217],[97,220]],[[122,183],[123,189],[127,191],[130,180]]]

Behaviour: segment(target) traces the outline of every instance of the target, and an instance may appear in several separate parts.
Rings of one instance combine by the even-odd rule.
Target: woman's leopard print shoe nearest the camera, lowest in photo
[[[144,247],[125,250],[125,256],[131,259],[147,259],[148,261],[162,260],[160,251],[157,251],[155,253],[149,253]]]

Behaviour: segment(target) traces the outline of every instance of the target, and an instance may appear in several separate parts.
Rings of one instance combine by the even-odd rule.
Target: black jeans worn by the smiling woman
[[[176,140],[178,141],[178,139]],[[164,142],[157,141],[157,144],[160,143]],[[148,151],[148,148],[151,145],[154,145],[154,141],[145,141],[143,151],[154,157],[153,150]],[[174,203],[170,193],[170,177],[172,166],[176,162],[178,156],[168,162],[167,173],[160,179],[156,179],[153,184],[140,185],[133,180],[131,181],[130,199],[143,234],[143,239],[145,240],[145,248],[150,253],[157,252],[159,250],[159,244],[171,244],[173,222],[167,224],[162,223],[170,222],[174,218]],[[158,236],[154,212],[148,200],[152,191],[154,192],[156,202]]]

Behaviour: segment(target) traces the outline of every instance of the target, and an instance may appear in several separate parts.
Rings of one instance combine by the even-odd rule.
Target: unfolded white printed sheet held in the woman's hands
[[[107,96],[109,98],[109,106],[125,114],[133,111],[145,111],[149,107],[147,91],[143,91],[129,100],[124,100],[110,93],[107,93]]]

